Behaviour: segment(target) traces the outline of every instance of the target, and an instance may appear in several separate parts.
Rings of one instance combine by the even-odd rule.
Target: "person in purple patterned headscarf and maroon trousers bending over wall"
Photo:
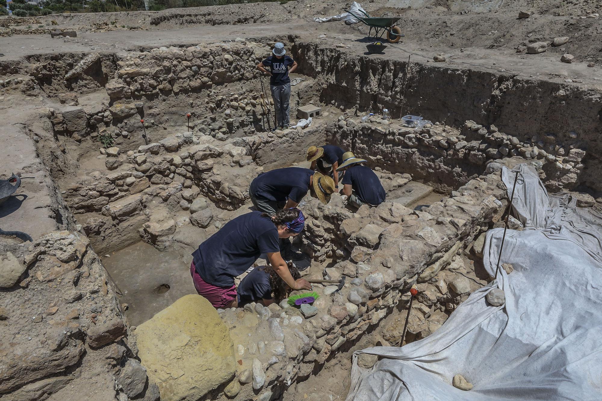
[[[265,253],[274,272],[289,287],[311,290],[308,281],[291,276],[280,254],[279,239],[294,237],[304,227],[305,217],[297,208],[280,210],[274,216],[252,211],[235,217],[193,252],[190,275],[194,288],[215,308],[236,308],[234,278]]]

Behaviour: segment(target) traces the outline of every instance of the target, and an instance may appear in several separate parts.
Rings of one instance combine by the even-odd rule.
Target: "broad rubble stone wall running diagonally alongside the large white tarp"
[[[471,180],[454,196],[424,211],[385,202],[353,213],[343,207],[338,194],[328,205],[309,201],[304,206],[307,229],[302,241],[320,250],[314,258],[324,258],[324,277],[344,276],[346,284],[341,291],[335,291],[334,285],[314,285],[320,299],[301,309],[286,302],[267,308],[249,304],[243,309],[219,309],[230,328],[238,364],[235,378],[223,383],[222,396],[212,393],[212,399],[278,397],[282,387],[311,374],[332,353],[393,312],[402,294],[417,282],[424,304],[429,305],[424,316],[434,313],[433,319],[437,318],[439,312],[429,308],[439,299],[447,299],[453,309],[454,302],[473,288],[460,282],[460,273],[442,276],[439,272],[483,225],[500,218],[506,204],[499,200],[505,199],[500,167],[492,165],[491,173]],[[444,292],[433,294],[438,281]],[[444,320],[439,319],[438,325]],[[430,329],[437,327],[433,320]],[[414,331],[427,335],[428,330]]]

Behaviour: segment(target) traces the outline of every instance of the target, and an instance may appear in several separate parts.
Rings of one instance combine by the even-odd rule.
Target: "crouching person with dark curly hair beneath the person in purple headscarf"
[[[288,262],[287,265],[291,276],[299,279],[301,275],[293,262]],[[238,306],[250,302],[260,302],[264,306],[274,302],[280,303],[288,298],[291,291],[293,288],[289,287],[272,267],[256,267],[238,284]]]

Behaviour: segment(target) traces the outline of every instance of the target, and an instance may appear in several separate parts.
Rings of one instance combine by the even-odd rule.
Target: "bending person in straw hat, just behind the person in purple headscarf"
[[[334,191],[335,183],[329,176],[300,167],[287,167],[259,174],[251,182],[249,195],[256,210],[274,216],[281,208],[296,207],[308,192],[327,204]],[[304,257],[293,252],[289,240],[281,240],[281,252],[288,260]]]

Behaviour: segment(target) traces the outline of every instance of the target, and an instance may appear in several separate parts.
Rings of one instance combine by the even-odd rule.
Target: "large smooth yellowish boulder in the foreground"
[[[199,295],[176,300],[135,333],[138,356],[162,399],[201,399],[234,377],[234,344],[228,328]],[[187,373],[173,375],[174,371]]]

